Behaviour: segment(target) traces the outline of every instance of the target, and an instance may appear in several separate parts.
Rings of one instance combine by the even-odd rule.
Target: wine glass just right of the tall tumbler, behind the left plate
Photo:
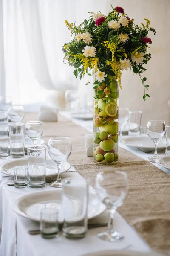
[[[26,123],[26,134],[33,140],[34,146],[43,134],[43,125],[40,121],[29,121]]]

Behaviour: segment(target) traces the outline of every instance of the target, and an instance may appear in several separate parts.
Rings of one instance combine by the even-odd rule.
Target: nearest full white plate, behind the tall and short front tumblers
[[[71,200],[71,210],[75,210],[75,215],[79,220],[79,204],[81,202]],[[19,198],[14,202],[13,210],[18,215],[25,218],[31,219],[33,221],[40,221],[40,212],[43,208],[55,208],[58,209],[58,221],[63,222],[63,212],[62,212],[62,189],[44,191],[32,193]],[[97,198],[96,194],[89,193],[89,203],[88,203],[88,219],[94,218],[104,212],[106,209],[105,205],[102,204]],[[69,211],[69,209],[68,209]]]

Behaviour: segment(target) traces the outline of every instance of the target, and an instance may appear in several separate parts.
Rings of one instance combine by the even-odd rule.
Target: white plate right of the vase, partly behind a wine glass
[[[120,142],[134,150],[140,150],[144,152],[151,152],[155,146],[149,136],[125,136],[120,139]],[[158,143],[158,150],[164,151],[166,146],[166,139],[163,138]]]

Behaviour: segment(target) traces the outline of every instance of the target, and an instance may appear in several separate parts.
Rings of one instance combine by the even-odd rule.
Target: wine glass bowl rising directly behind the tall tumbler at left
[[[12,122],[21,122],[25,116],[23,106],[11,106],[8,110],[9,119]]]

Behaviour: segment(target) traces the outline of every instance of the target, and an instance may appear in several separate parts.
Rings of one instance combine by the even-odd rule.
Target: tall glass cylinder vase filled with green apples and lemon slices
[[[118,162],[119,83],[115,76],[108,79],[110,85],[99,83],[94,89],[94,162],[113,165]]]

